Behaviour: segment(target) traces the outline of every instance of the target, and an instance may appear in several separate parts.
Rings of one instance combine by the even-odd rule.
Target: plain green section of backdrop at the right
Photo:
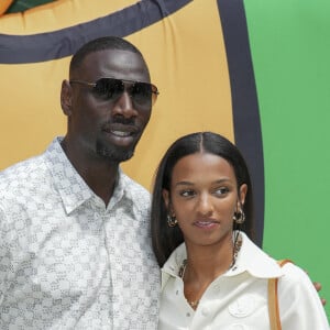
[[[263,248],[306,268],[330,300],[330,1],[264,3],[244,1],[265,162]]]

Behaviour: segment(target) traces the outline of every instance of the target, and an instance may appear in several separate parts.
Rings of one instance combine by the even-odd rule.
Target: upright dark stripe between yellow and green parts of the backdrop
[[[264,157],[261,121],[243,0],[218,0],[229,66],[235,144],[253,183],[256,243],[264,230]]]

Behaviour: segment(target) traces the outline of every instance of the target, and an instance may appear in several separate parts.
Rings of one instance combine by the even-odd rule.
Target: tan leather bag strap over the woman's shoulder
[[[277,263],[282,267],[286,263],[292,263],[292,261],[288,258],[284,258],[277,261]],[[277,283],[278,283],[278,278],[268,279],[268,314],[270,314],[271,330],[282,330],[279,309],[278,309]]]

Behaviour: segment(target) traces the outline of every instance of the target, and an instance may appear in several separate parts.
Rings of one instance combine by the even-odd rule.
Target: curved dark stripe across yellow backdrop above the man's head
[[[124,37],[178,11],[191,0],[142,0],[94,21],[32,35],[0,34],[0,64],[53,61],[106,35]]]

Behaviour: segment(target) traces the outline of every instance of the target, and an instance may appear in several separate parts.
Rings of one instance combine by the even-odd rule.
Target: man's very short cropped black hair
[[[143,55],[138,50],[136,46],[128,42],[127,40],[119,36],[102,36],[95,38],[86,44],[84,44],[72,57],[69,65],[69,74],[72,76],[73,72],[80,66],[84,62],[85,57],[91,53],[106,51],[106,50],[120,50],[120,51],[129,51],[135,54],[139,54],[142,59]],[[144,61],[145,63],[145,61]],[[146,64],[145,64],[146,66]]]

